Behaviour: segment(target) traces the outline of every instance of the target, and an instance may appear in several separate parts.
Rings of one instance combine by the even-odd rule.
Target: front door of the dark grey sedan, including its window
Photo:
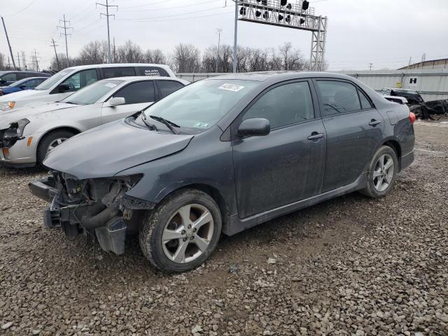
[[[325,169],[325,129],[315,113],[308,80],[270,87],[232,124],[232,148],[240,218],[317,195]],[[248,118],[266,118],[271,132],[239,138]]]

